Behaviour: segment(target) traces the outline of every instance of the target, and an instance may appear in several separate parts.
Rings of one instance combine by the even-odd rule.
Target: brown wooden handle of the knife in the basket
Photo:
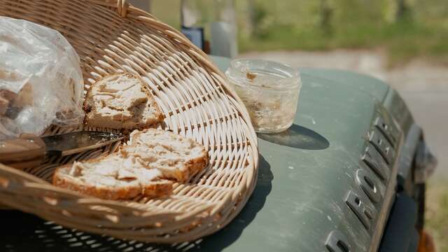
[[[0,162],[25,169],[40,165],[45,158],[45,143],[32,134],[21,134],[18,139],[0,141]]]

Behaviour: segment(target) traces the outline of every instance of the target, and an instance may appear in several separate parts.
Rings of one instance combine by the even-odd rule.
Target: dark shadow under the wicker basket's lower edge
[[[241,236],[244,228],[265,205],[267,195],[272,190],[273,179],[269,163],[260,155],[257,185],[246,206],[223,230],[197,241],[172,245],[126,241],[63,228],[21,211],[0,210],[0,251],[222,251]]]

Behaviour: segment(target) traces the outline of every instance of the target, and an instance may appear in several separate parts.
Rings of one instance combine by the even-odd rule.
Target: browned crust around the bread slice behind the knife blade
[[[89,104],[89,102],[90,102],[90,97],[92,95],[93,87],[96,85],[99,85],[103,81],[108,81],[111,78],[114,78],[116,76],[123,76],[123,75],[127,76],[128,78],[134,78],[134,79],[139,80],[139,83],[140,83],[142,89],[144,90],[144,92],[146,93],[146,96],[148,97],[148,101],[150,101],[151,107],[155,110],[155,112],[153,113],[153,116],[155,117],[155,122],[147,123],[147,124],[137,123],[133,127],[112,127],[112,128],[117,129],[117,130],[144,130],[144,129],[151,127],[152,125],[162,122],[162,120],[164,119],[162,110],[160,109],[159,105],[155,101],[153,94],[151,94],[150,88],[144,82],[144,80],[140,76],[134,75],[132,73],[115,73],[115,74],[111,74],[109,76],[104,76],[102,78],[99,78],[97,81],[95,81],[95,83],[90,85],[89,89],[87,90],[87,92],[85,94],[85,99],[83,102],[83,110],[85,111],[85,117],[84,117],[83,123],[85,125],[90,125],[88,117],[89,117],[89,113],[92,110],[92,106],[91,106],[91,104]],[[113,120],[113,119],[111,119],[111,120]],[[122,120],[113,120],[113,122],[111,122],[111,124],[116,123],[116,122],[120,122],[120,124],[122,126],[125,125],[125,121],[122,121]],[[90,125],[90,126],[95,127],[97,125]]]

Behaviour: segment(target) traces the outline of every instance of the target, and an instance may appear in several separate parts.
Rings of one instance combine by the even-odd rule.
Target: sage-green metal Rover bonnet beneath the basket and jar
[[[367,146],[367,132],[374,129],[377,114],[386,111],[377,106],[387,98],[389,87],[357,73],[300,71],[303,87],[293,127],[275,137],[258,135],[262,155],[259,181],[265,190],[255,188],[235,221],[202,241],[205,251],[232,232],[241,235],[225,251],[326,251],[325,241],[334,230],[349,239],[353,251],[376,250],[370,246],[373,240],[379,245],[382,232],[375,230],[384,229],[396,181],[391,179],[378,189],[383,190],[383,197],[387,195],[387,202],[372,203],[357,184],[356,171],[363,168],[376,176],[360,158]],[[400,118],[402,122],[405,119]],[[395,174],[390,176],[395,178],[398,162],[392,161],[395,169],[389,169]],[[366,230],[345,204],[349,190],[366,202],[366,207],[381,212],[372,222],[374,228]],[[265,195],[258,195],[261,191]],[[253,200],[262,202],[262,208],[249,217]],[[387,206],[379,207],[382,203]],[[247,226],[238,230],[234,223]]]

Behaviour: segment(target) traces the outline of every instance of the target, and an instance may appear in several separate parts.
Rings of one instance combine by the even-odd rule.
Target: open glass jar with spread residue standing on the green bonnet
[[[293,125],[302,87],[298,70],[269,60],[235,59],[225,75],[246,105],[256,132],[282,132]]]

